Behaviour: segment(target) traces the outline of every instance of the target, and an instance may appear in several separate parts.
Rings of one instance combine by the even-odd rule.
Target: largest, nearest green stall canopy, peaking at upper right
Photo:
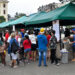
[[[68,3],[48,13],[39,14],[25,21],[25,24],[40,24],[54,20],[75,20],[75,4]]]

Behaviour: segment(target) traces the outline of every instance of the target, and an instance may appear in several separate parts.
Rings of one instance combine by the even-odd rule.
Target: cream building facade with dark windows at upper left
[[[0,0],[0,16],[8,21],[8,0]]]

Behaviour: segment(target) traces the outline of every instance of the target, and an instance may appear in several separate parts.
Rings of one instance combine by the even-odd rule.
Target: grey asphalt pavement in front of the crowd
[[[61,64],[56,66],[47,62],[48,67],[38,67],[37,62],[31,62],[30,64],[21,63],[16,69],[9,66],[9,59],[7,61],[7,66],[3,67],[0,64],[0,75],[75,75],[75,62],[70,62],[69,64]]]

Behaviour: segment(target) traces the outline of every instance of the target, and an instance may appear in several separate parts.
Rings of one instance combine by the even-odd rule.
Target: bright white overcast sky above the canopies
[[[12,17],[16,12],[25,13],[27,15],[36,13],[39,6],[52,2],[58,3],[58,0],[8,0],[8,14]]]

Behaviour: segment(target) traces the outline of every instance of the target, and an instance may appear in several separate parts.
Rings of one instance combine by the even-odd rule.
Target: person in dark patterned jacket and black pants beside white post
[[[51,49],[51,64],[56,64],[59,66],[58,59],[56,57],[56,49],[57,49],[57,38],[55,36],[55,31],[51,32],[51,39],[50,39],[50,49]]]

